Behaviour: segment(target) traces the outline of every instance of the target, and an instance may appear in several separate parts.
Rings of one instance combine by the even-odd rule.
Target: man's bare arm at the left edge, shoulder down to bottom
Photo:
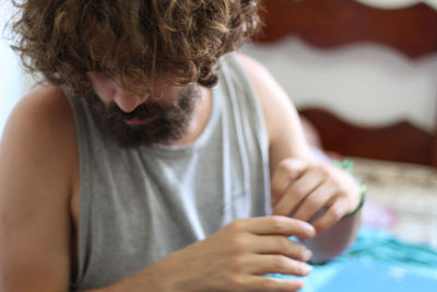
[[[0,237],[8,238],[0,241],[1,291],[68,290],[75,148],[59,87],[22,97],[0,142]]]

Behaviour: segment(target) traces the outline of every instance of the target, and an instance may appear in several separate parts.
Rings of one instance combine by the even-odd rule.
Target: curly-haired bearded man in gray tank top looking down
[[[353,241],[359,186],[232,52],[258,1],[21,9],[15,49],[46,83],[1,141],[1,291],[296,291],[265,273],[306,276]]]

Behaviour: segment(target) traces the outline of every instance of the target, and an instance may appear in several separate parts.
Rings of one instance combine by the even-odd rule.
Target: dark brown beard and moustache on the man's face
[[[169,144],[178,141],[190,124],[196,102],[200,97],[198,85],[180,90],[174,104],[162,104],[147,98],[133,112],[125,113],[116,104],[105,105],[93,92],[86,101],[108,132],[122,148],[138,148],[152,144]],[[145,120],[140,125],[129,125],[131,119]]]

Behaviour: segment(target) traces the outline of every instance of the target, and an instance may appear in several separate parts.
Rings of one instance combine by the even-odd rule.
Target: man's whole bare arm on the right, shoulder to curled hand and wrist
[[[270,143],[273,213],[312,222],[318,235],[306,245],[316,260],[329,260],[355,238],[361,215],[342,219],[359,203],[353,177],[317,161],[291,98],[255,60],[238,55],[259,95]],[[319,213],[317,220],[314,220]]]

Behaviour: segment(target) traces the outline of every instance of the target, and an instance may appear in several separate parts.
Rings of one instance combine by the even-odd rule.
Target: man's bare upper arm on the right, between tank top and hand
[[[292,156],[308,156],[308,145],[292,98],[257,60],[237,54],[262,106],[270,142],[271,168]]]

